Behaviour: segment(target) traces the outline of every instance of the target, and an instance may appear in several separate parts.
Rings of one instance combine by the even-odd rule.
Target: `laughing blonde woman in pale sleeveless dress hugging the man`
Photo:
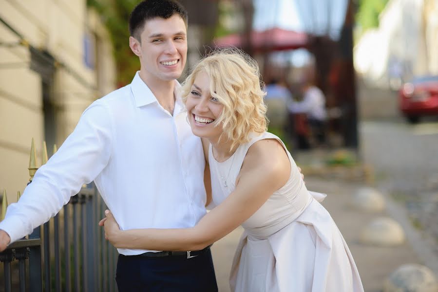
[[[102,219],[117,248],[198,251],[245,229],[230,275],[232,291],[363,291],[333,219],[309,192],[283,142],[268,133],[257,64],[237,50],[202,59],[183,85],[191,130],[209,142],[212,201],[193,228],[120,230]]]

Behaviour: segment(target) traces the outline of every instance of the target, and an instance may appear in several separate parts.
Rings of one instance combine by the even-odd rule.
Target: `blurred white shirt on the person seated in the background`
[[[316,86],[310,86],[304,93],[303,101],[292,101],[288,109],[292,113],[306,113],[308,118],[318,121],[327,117],[324,93]]]

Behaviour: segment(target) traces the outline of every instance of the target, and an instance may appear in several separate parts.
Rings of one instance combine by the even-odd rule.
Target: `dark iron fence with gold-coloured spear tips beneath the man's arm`
[[[37,169],[31,165],[34,149],[32,141],[31,180]],[[6,192],[2,204],[5,210]],[[0,292],[116,291],[118,253],[97,225],[106,208],[94,183],[84,185],[54,218],[0,253]]]

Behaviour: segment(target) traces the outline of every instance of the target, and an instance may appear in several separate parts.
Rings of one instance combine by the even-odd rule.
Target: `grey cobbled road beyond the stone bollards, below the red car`
[[[417,125],[362,122],[359,128],[362,158],[374,166],[376,185],[398,202],[438,258],[438,117]],[[429,266],[438,273],[438,260]]]

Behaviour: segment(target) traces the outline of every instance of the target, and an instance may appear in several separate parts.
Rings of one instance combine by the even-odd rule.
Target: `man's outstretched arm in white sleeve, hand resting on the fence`
[[[9,205],[0,229],[10,236],[10,242],[55,216],[82,184],[95,179],[109,162],[112,137],[110,110],[98,100],[84,111],[57,153],[38,169],[19,202]],[[7,239],[0,233],[0,251]]]

